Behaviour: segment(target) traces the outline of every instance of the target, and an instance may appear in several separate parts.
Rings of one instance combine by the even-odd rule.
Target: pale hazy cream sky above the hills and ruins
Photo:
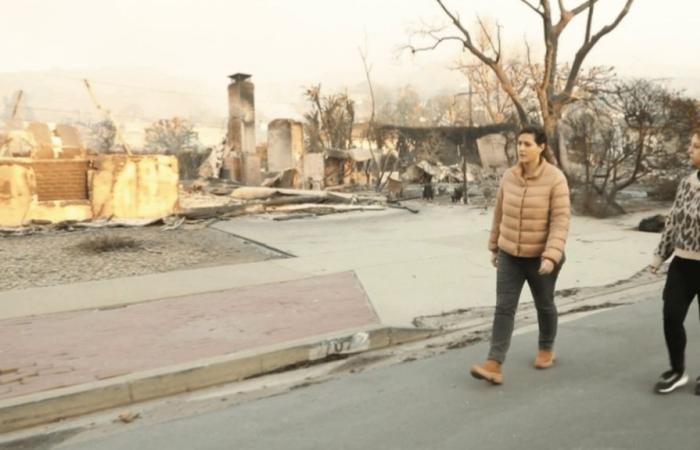
[[[468,25],[477,14],[497,19],[509,45],[521,46],[526,36],[540,38],[537,16],[519,0],[446,3]],[[596,26],[611,21],[623,3],[600,0]],[[454,46],[397,58],[396,48],[408,42],[408,30],[419,20],[444,20],[433,0],[0,0],[0,5],[2,72],[139,68],[220,89],[228,74],[240,71],[252,73],[258,85],[337,85],[364,79],[358,47],[366,36],[377,83],[460,82],[443,68],[459,53]],[[578,29],[565,33],[561,60],[573,55],[583,21],[580,17]],[[636,0],[587,62],[616,65],[624,74],[694,78],[700,71],[698,43],[700,2]]]

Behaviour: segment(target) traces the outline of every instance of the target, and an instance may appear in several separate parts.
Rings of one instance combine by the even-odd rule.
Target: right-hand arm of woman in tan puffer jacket
[[[569,223],[571,221],[571,200],[569,199],[569,185],[566,178],[552,188],[549,202],[549,233],[547,243],[542,253],[542,258],[550,260],[553,265],[559,264],[564,255],[566,238],[569,235]]]

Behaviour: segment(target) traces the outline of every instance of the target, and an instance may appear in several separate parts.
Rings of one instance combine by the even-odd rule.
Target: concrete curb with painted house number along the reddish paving
[[[376,325],[0,401],[0,433],[441,334]]]

